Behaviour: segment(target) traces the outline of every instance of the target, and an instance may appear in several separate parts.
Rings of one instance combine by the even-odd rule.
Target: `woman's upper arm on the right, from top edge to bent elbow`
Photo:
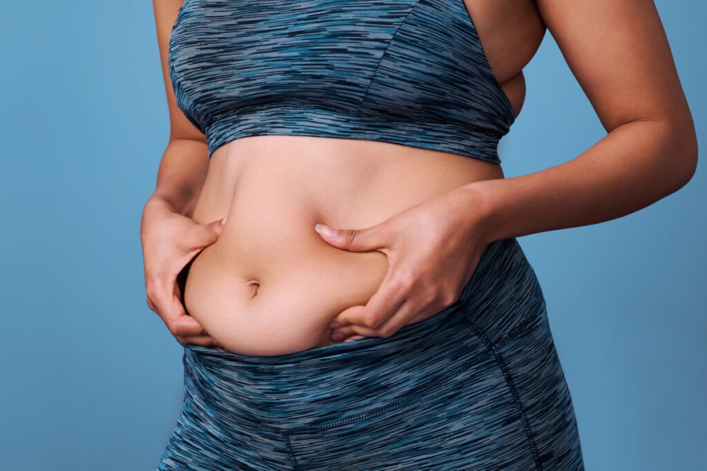
[[[604,129],[663,121],[696,151],[694,123],[652,0],[536,3]]]

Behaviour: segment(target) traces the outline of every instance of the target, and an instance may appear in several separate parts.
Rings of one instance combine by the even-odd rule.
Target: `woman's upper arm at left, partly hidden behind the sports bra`
[[[155,23],[157,27],[157,41],[160,47],[160,61],[167,92],[167,104],[170,112],[170,141],[175,139],[190,139],[206,143],[206,136],[194,124],[189,122],[175,101],[172,79],[169,73],[168,47],[172,27],[177,20],[177,11],[185,0],[153,0],[155,10]]]

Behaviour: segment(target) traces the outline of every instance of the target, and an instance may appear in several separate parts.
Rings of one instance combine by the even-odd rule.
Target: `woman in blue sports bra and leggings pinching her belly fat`
[[[185,347],[158,469],[583,469],[515,237],[691,178],[655,6],[154,6],[171,126],[141,235],[148,305]],[[498,140],[546,28],[608,134],[506,179]]]

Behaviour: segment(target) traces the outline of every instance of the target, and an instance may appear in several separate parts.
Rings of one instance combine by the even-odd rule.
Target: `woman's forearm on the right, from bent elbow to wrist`
[[[684,186],[696,160],[694,133],[662,121],[631,121],[561,165],[462,188],[481,202],[484,232],[493,241],[633,213]]]

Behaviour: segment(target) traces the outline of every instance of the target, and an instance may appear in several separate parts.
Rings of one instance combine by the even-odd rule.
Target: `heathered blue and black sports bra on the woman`
[[[280,134],[500,163],[515,121],[464,0],[185,0],[168,61],[209,159]]]

